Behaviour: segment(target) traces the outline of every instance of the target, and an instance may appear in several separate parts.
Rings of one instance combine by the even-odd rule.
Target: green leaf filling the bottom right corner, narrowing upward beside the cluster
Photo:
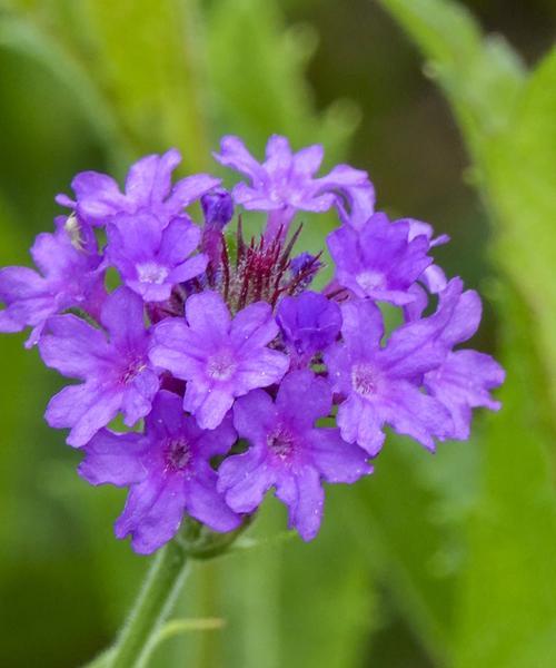
[[[546,374],[528,305],[505,289],[503,412],[483,444],[456,666],[548,668],[556,656],[556,497]],[[543,402],[543,397],[545,401]]]

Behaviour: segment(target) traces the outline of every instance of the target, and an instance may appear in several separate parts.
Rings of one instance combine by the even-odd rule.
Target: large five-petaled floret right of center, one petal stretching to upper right
[[[461,282],[453,279],[443,293],[437,312],[396,330],[386,346],[383,316],[370,301],[342,305],[344,343],[325,353],[336,393],[344,397],[337,424],[342,438],[376,455],[384,443],[383,428],[435,449],[434,438],[453,431],[449,412],[438,399],[421,391],[423,375],[446,358],[445,338],[461,296]]]

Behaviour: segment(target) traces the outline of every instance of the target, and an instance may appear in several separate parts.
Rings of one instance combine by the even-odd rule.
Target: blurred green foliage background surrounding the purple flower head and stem
[[[390,438],[375,475],[330,489],[312,543],[276,538],[270,500],[260,542],[180,597],[177,616],[224,628],[152,666],[556,666],[555,27],[553,0],[0,2],[0,265],[29,262],[78,170],[121,177],[170,146],[183,174],[216,169],[220,135],[260,153],[284,132],[450,234],[439,262],[485,298],[474,344],[508,371],[470,442]],[[112,536],[123,494],[82,482],[43,423],[62,381],[23,338],[0,338],[0,666],[76,667],[148,560]]]

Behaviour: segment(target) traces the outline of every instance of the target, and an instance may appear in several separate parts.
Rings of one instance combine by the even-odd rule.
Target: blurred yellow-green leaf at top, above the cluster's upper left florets
[[[142,154],[177,146],[187,168],[206,167],[196,2],[87,0],[77,6],[82,32],[71,37],[79,37],[76,47],[102,82],[133,147]]]

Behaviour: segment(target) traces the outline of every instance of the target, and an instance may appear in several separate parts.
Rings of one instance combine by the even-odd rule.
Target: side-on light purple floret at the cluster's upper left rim
[[[79,220],[101,226],[117,214],[148,212],[168,222],[198,199],[219,179],[207,174],[189,176],[172,187],[172,171],[181,161],[175,148],[161,156],[141,158],[131,166],[126,179],[126,191],[120,193],[117,181],[98,171],[81,171],[71,181],[76,200],[58,195],[57,203],[70,207]]]

